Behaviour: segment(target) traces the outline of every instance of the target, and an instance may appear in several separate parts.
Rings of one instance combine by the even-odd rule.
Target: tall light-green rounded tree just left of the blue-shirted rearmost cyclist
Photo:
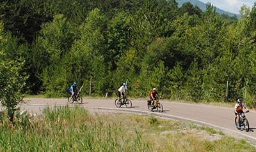
[[[43,81],[48,97],[60,96],[67,92],[67,81],[70,74],[69,50],[74,41],[72,27],[63,15],[54,16],[54,20],[42,26],[38,45],[32,49],[33,65]],[[38,62],[40,61],[40,62]]]

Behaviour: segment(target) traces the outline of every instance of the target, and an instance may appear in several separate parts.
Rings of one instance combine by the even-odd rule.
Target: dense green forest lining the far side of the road
[[[0,7],[1,96],[132,97],[256,106],[256,6],[238,19],[175,0],[5,0]],[[141,94],[142,93],[142,94]],[[19,100],[19,99],[16,99]]]

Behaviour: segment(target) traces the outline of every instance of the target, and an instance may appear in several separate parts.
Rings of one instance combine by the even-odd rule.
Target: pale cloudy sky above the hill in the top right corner
[[[230,13],[239,14],[239,10],[241,10],[241,6],[244,4],[250,9],[256,2],[256,0],[199,0],[204,3],[210,2],[213,6],[220,8],[223,11],[229,11]]]

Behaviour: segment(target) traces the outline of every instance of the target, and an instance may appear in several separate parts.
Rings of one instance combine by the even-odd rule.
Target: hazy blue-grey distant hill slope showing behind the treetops
[[[183,3],[186,3],[186,2],[190,2],[191,4],[193,4],[194,6],[197,5],[202,11],[206,11],[206,4],[203,3],[202,1],[198,1],[198,0],[176,0],[178,3],[179,3],[179,7],[182,6]],[[216,6],[215,6],[216,7]],[[217,13],[220,13],[220,14],[227,14],[229,15],[230,17],[233,17],[234,15],[237,16],[237,18],[240,17],[239,14],[234,14],[234,13],[230,13],[228,11],[223,11],[221,10],[220,8],[217,8],[216,7],[216,12]]]

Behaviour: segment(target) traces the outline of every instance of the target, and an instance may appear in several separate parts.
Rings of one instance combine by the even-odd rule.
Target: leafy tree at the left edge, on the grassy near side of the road
[[[17,104],[23,101],[22,88],[28,78],[22,73],[24,61],[20,58],[12,59],[13,57],[8,54],[11,52],[10,50],[16,52],[20,49],[20,46],[12,49],[8,48],[9,43],[13,44],[13,41],[17,43],[17,39],[13,38],[10,33],[6,34],[3,24],[0,24],[0,101],[2,106],[6,107],[11,121],[17,110]]]

